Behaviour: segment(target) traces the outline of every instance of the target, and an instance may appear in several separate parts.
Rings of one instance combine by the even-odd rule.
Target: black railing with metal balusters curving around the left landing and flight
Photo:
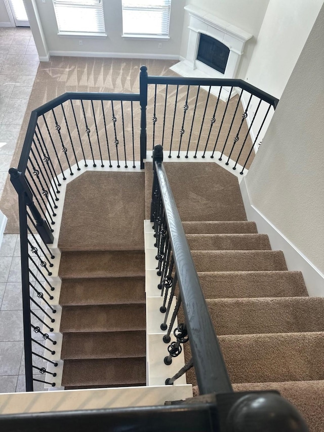
[[[144,155],[137,154],[135,143],[140,141],[143,152],[145,104],[145,92],[144,98],[137,93],[65,93],[31,112],[18,168],[9,171],[19,197],[27,391],[33,391],[34,381],[57,385],[54,294],[59,281],[53,267],[59,251],[49,245],[58,239],[54,228],[62,184],[89,165],[136,168],[141,160],[143,168]]]

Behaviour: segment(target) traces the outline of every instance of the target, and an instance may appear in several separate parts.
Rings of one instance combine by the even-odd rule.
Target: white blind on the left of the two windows
[[[104,33],[103,0],[53,0],[59,32]]]

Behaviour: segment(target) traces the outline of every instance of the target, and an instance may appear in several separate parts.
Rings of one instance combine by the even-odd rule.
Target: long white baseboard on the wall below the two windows
[[[63,57],[108,57],[108,58],[135,58],[155,60],[179,60],[176,54],[145,54],[145,53],[107,53],[93,51],[50,51],[50,56]]]

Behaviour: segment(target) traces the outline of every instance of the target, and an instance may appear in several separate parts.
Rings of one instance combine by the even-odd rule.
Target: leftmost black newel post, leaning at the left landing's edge
[[[32,193],[28,187],[24,176],[21,175],[21,172],[19,172],[17,168],[10,168],[9,174],[10,181],[16,189],[19,197],[23,196],[26,206],[29,207],[30,213],[32,214],[36,222],[37,232],[41,236],[41,239],[46,244],[52,244],[54,241],[54,237],[51,228],[49,227],[46,220],[42,218],[41,213],[39,213],[35,204],[33,203]]]

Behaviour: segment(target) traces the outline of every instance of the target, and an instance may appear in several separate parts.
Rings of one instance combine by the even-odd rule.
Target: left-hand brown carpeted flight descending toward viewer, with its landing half
[[[59,239],[65,389],[145,385],[143,180],[88,172],[67,187]]]

